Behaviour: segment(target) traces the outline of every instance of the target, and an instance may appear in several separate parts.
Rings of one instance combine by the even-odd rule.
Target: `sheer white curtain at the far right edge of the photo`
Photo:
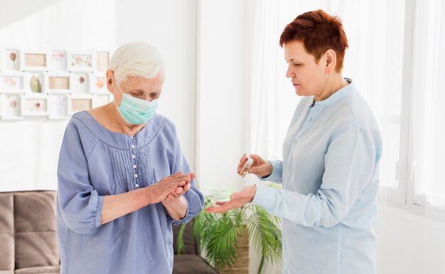
[[[418,2],[412,78],[414,203],[445,211],[445,4]]]

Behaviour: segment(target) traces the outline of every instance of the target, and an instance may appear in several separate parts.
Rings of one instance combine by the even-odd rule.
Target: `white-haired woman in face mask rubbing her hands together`
[[[112,56],[114,102],[68,123],[58,166],[62,274],[171,273],[171,225],[203,209],[173,123],[156,114],[163,58],[146,43]]]

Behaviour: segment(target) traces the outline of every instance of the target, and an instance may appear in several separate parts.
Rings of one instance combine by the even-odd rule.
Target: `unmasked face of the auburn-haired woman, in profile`
[[[291,78],[295,93],[299,96],[318,95],[323,91],[328,75],[326,74],[326,57],[321,56],[318,63],[306,52],[301,41],[284,44],[286,59],[286,77]]]

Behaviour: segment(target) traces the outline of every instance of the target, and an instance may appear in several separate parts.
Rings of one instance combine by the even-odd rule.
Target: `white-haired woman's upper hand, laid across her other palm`
[[[147,187],[147,199],[150,204],[156,204],[168,198],[168,196],[181,196],[190,189],[190,181],[195,178],[194,173],[182,174],[177,172],[167,176],[156,184]]]

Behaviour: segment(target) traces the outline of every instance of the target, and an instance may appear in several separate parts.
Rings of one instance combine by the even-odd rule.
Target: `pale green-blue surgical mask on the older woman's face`
[[[116,83],[123,97],[119,107],[117,106],[117,102],[115,100],[114,103],[116,104],[117,110],[119,110],[122,118],[132,125],[142,125],[148,122],[158,109],[159,99],[147,101],[134,98],[133,96],[122,92],[119,83],[117,81]]]

